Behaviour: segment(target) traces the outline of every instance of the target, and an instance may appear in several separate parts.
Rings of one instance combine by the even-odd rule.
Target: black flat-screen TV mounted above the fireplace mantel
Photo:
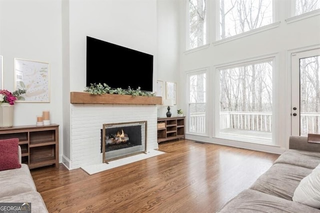
[[[152,91],[153,55],[86,36],[86,86]]]

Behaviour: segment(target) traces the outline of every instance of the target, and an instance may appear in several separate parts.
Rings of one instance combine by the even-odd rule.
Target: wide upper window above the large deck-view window
[[[272,0],[220,0],[219,38],[272,23]]]

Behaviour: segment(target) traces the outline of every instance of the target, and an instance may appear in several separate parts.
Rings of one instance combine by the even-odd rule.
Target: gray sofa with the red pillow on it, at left
[[[21,168],[0,171],[0,203],[3,202],[30,202],[31,212],[48,212],[40,193],[36,191],[30,170],[24,163],[21,163]]]

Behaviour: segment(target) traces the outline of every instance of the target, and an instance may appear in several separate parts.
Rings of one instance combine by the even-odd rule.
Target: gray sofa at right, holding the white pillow
[[[309,143],[305,136],[290,136],[289,149],[248,189],[217,212],[320,212],[320,209],[292,201],[300,181],[319,163],[319,143]]]

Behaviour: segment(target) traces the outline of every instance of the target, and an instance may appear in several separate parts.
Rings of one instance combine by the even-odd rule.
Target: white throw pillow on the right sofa
[[[313,169],[300,181],[294,190],[292,200],[314,208],[320,208],[320,169]]]

